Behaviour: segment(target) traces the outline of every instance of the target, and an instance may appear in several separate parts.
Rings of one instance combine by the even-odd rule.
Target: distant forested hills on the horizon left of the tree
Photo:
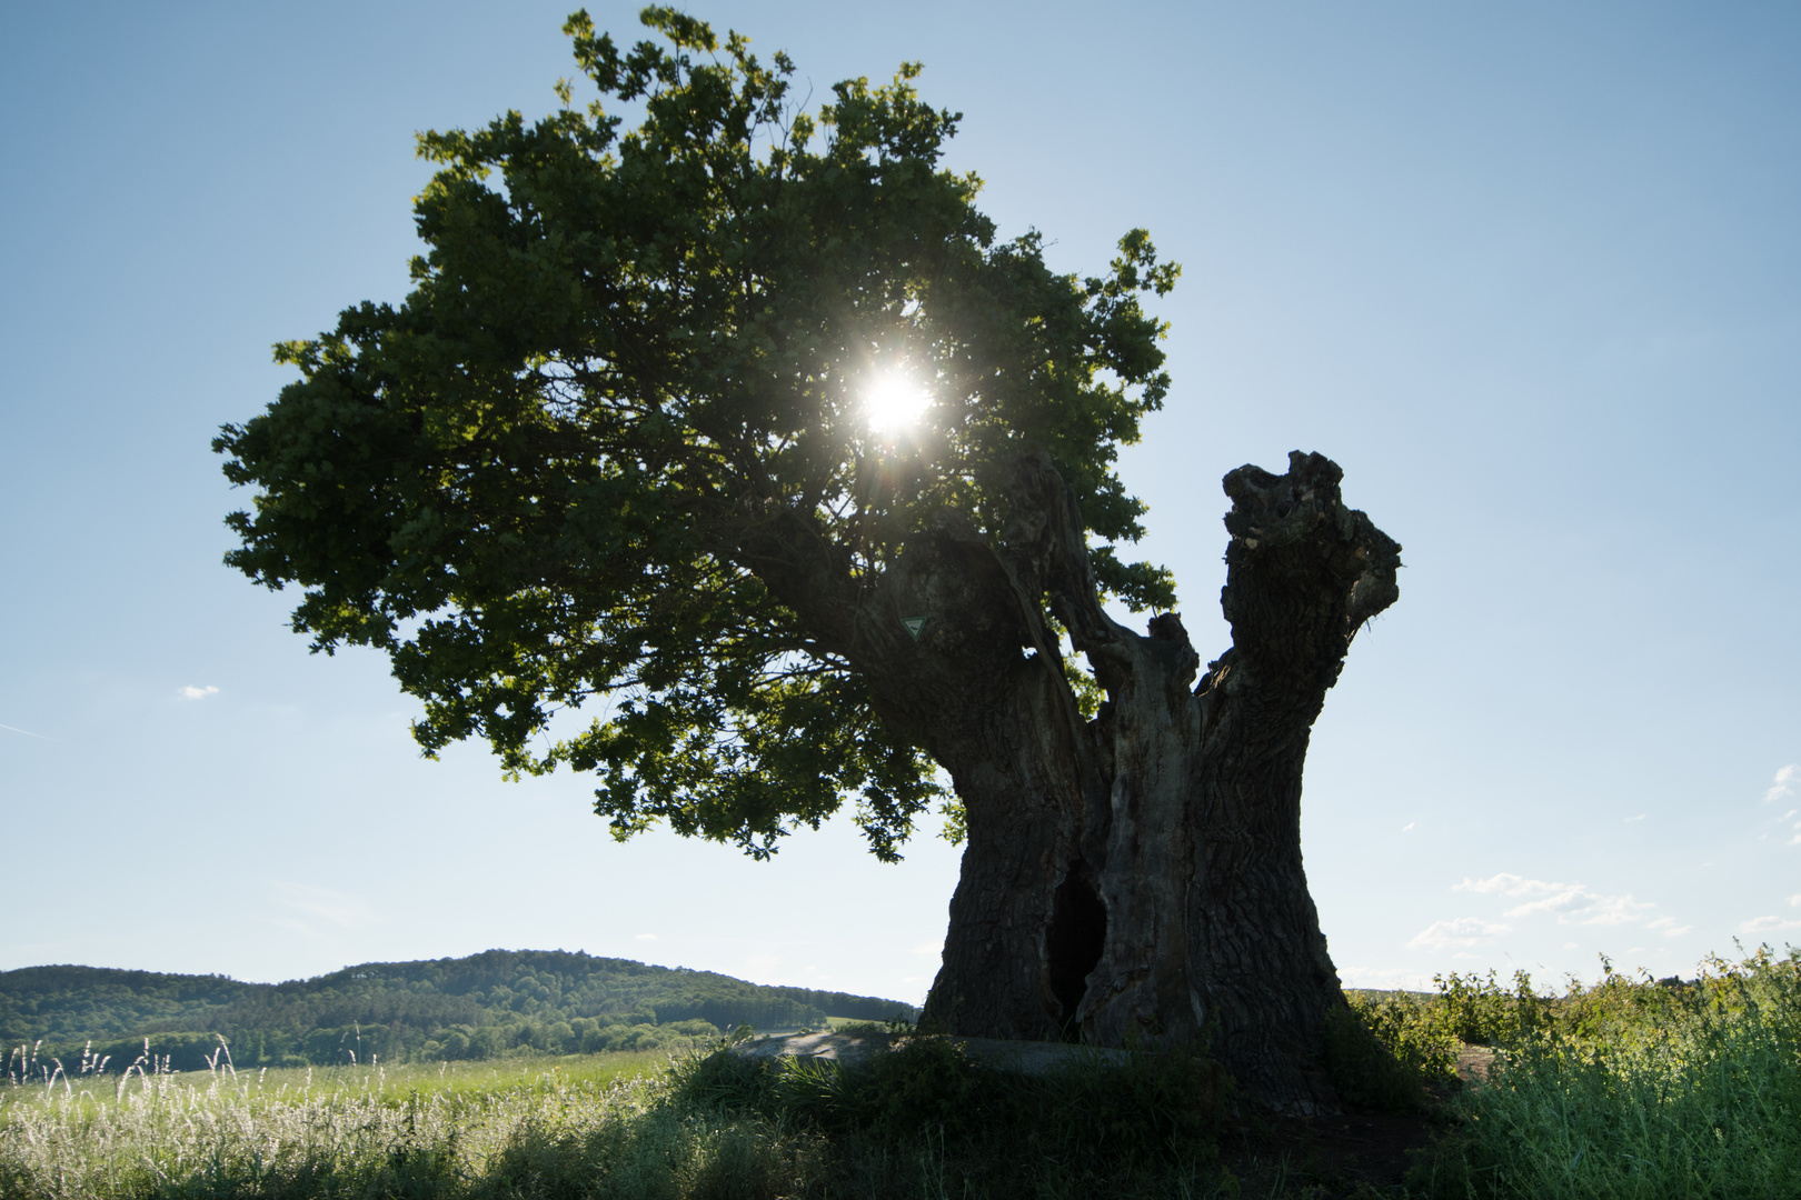
[[[59,1058],[70,1072],[90,1042],[90,1060],[106,1058],[112,1072],[137,1061],[146,1038],[169,1069],[204,1070],[222,1038],[240,1069],[299,1067],[656,1049],[738,1025],[915,1015],[899,1000],[562,950],[366,963],[285,984],[94,966],[0,972],[0,1054],[43,1042],[36,1060]]]

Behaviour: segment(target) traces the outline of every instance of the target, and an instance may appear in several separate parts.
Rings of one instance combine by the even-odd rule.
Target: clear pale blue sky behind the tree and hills
[[[1349,984],[1801,941],[1801,11],[715,4],[816,94],[920,59],[1003,232],[1149,227],[1124,457],[1203,657],[1241,462],[1405,549],[1315,730]],[[636,38],[636,5],[596,4]],[[400,299],[412,133],[555,104],[564,4],[0,9],[0,970],[290,979],[567,948],[920,999],[956,853],[773,864],[441,763],[373,655],[220,565],[276,340]]]

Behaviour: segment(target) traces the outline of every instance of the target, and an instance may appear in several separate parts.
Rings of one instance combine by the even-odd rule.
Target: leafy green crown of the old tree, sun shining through
[[[746,547],[792,518],[866,585],[938,509],[996,538],[1045,450],[1102,585],[1172,604],[1111,543],[1144,533],[1113,468],[1169,389],[1140,299],[1176,268],[1142,230],[1084,279],[1036,232],[1000,241],[919,65],[805,112],[787,56],[643,22],[666,45],[569,18],[587,106],[564,81],[535,124],[420,137],[414,291],[277,347],[301,378],[214,441],[258,488],[227,561],[303,588],[313,649],[385,651],[430,754],[479,736],[515,775],[593,770],[618,837],[666,820],[758,856],[855,797],[893,858],[933,765]],[[870,430],[884,376],[929,390],[917,430]]]

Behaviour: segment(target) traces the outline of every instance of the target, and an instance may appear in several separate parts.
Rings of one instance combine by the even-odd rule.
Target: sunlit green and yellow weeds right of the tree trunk
[[[1801,1196],[1801,952],[1691,982],[1606,968],[1556,999],[1441,986],[1441,1022],[1498,1049],[1416,1169],[1434,1196]]]

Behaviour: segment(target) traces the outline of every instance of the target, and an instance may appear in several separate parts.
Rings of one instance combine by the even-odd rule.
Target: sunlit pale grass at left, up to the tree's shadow
[[[0,1196],[492,1195],[468,1184],[533,1132],[629,1121],[666,1061],[52,1072],[0,1088]]]

